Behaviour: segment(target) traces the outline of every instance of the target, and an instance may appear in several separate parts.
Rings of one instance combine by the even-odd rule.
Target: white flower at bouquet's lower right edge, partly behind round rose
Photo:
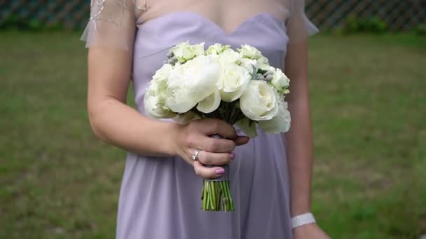
[[[285,133],[289,131],[291,124],[290,112],[287,110],[287,102],[280,102],[278,113],[275,117],[266,121],[259,121],[261,129],[265,133]]]

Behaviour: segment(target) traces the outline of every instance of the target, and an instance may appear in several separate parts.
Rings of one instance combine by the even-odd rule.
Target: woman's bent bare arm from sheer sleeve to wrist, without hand
[[[130,52],[90,48],[88,115],[96,136],[131,152],[172,156],[178,124],[153,121],[125,104]]]

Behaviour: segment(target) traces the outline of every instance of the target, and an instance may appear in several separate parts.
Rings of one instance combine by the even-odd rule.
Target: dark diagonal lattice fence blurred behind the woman
[[[348,15],[378,17],[393,31],[426,24],[426,0],[306,1],[308,16],[321,29],[343,24]],[[0,25],[14,17],[24,22],[59,23],[79,29],[88,21],[89,8],[90,0],[0,0]]]

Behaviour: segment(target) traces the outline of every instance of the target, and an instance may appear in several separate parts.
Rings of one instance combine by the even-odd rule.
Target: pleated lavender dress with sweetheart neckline
[[[92,20],[96,17],[92,13]],[[108,24],[99,19],[97,29],[90,29],[85,36],[88,45],[107,45],[107,40],[95,34],[104,30],[102,24]],[[303,21],[303,26],[309,24]],[[289,41],[287,25],[270,13],[251,15],[231,32],[200,13],[184,10],[135,25],[134,37],[126,41],[134,43],[132,76],[135,102],[142,114],[147,83],[162,66],[172,45],[183,41],[205,42],[206,46],[222,43],[233,48],[249,44],[261,50],[271,66],[282,67]],[[114,44],[132,48],[126,48],[127,43]],[[244,134],[239,130],[238,133]],[[121,185],[116,238],[292,238],[284,137],[267,135],[261,129],[258,134],[247,145],[235,149],[236,159],[230,166],[234,212],[202,211],[202,178],[179,157],[129,153]]]

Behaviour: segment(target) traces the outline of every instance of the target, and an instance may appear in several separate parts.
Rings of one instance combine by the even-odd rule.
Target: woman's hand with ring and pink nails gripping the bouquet
[[[202,178],[219,178],[224,168],[220,165],[229,164],[235,159],[235,146],[249,142],[247,136],[237,136],[235,128],[220,119],[198,119],[189,124],[181,125],[177,139],[174,141],[176,154],[194,167],[195,174]],[[212,138],[212,135],[224,138]],[[201,150],[198,161],[193,161],[195,150]],[[218,165],[212,168],[205,165]]]

